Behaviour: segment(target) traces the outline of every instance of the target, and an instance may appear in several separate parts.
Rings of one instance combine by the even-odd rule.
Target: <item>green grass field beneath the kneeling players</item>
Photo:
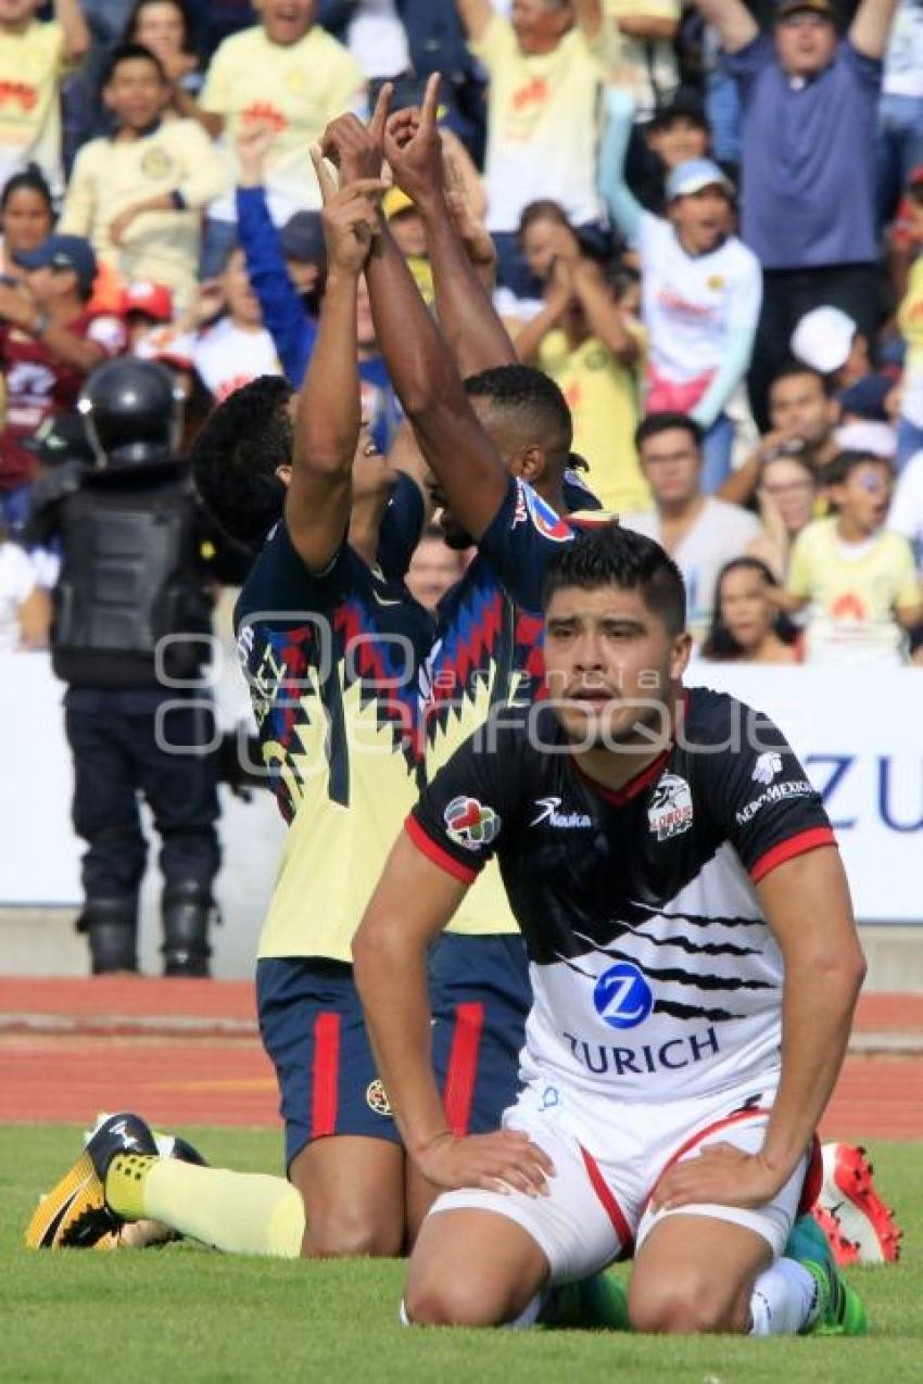
[[[187,1132],[187,1131],[184,1131]],[[274,1172],[270,1132],[188,1131],[213,1163]],[[905,1228],[897,1266],[851,1273],[865,1340],[657,1340],[577,1331],[408,1331],[397,1262],[288,1264],[192,1246],[32,1254],[22,1229],[73,1160],[72,1127],[0,1127],[0,1380],[217,1384],[477,1380],[479,1384],[898,1384],[923,1380],[923,1147],[876,1145]]]

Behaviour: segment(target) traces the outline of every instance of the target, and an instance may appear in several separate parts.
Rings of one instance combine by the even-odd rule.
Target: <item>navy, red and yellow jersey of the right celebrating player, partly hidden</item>
[[[513,476],[477,544],[477,558],[439,608],[439,631],[423,674],[422,750],[430,779],[493,707],[531,702],[541,691],[541,591],[552,555],[574,530],[606,523],[602,511],[566,519]],[[516,920],[495,866],[465,895],[451,923],[459,933],[513,933]]]

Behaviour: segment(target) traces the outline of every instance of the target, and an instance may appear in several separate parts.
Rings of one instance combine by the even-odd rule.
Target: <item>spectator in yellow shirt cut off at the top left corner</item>
[[[64,190],[61,78],[90,47],[79,0],[54,0],[54,18],[36,18],[42,0],[0,6],[0,185],[37,163],[51,190]]]

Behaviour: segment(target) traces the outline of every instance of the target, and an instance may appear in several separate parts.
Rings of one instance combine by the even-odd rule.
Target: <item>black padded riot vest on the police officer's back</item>
[[[84,483],[61,504],[51,660],[77,686],[156,686],[208,662],[212,592],[188,477]],[[177,689],[177,696],[183,692]]]

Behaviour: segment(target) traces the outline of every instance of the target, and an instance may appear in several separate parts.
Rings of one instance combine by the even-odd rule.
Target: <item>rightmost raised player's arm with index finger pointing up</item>
[[[458,234],[446,195],[444,152],[436,123],[439,80],[437,73],[430,76],[422,108],[396,111],[389,119],[385,152],[394,181],[414,202],[426,230],[443,335],[461,374],[476,375],[515,364],[516,350]]]

